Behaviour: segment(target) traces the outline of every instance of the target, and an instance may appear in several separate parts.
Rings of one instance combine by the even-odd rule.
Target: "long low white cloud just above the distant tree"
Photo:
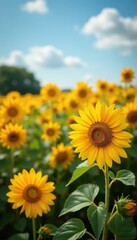
[[[85,63],[78,57],[66,56],[51,45],[37,46],[29,49],[27,54],[14,50],[9,57],[0,58],[0,64],[9,66],[25,66],[32,70],[37,68],[84,67]]]

